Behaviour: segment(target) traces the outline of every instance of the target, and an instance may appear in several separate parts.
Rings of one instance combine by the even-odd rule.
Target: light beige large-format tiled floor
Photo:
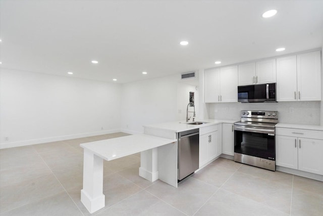
[[[124,133],[0,150],[0,214],[89,215],[80,201],[80,143]],[[138,176],[140,154],[104,161],[95,215],[319,215],[323,182],[219,158],[178,188]]]

